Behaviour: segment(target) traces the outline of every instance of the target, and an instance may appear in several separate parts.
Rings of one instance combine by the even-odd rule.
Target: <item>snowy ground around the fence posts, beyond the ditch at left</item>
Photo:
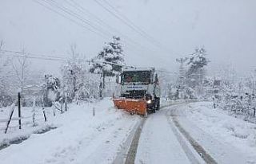
[[[7,121],[10,118],[10,113],[14,110],[12,119],[10,121],[7,133],[3,135],[6,130]],[[56,115],[60,112],[55,111]],[[53,107],[46,107],[45,114],[47,123],[45,122],[42,107],[22,107],[22,130],[18,129],[18,107],[3,107],[0,112],[0,149],[2,146],[8,146],[12,142],[17,142],[21,139],[27,139],[33,133],[42,133],[48,131],[55,126],[52,124],[55,119],[53,115]],[[33,121],[34,115],[34,121]]]

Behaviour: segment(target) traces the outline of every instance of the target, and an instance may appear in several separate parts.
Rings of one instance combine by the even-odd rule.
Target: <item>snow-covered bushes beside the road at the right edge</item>
[[[230,72],[229,72],[230,74]],[[232,74],[235,74],[232,72]],[[214,103],[229,111],[230,115],[242,117],[244,120],[256,123],[256,97],[254,91],[254,76],[220,76],[220,92],[215,95]]]

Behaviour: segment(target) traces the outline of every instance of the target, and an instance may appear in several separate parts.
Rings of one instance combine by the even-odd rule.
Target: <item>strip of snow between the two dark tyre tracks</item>
[[[135,163],[200,163],[182,135],[167,117],[169,107],[149,115],[139,140]]]

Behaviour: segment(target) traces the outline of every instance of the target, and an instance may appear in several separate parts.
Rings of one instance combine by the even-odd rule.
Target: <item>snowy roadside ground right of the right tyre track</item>
[[[199,102],[170,107],[170,115],[218,163],[256,163],[256,125]]]

